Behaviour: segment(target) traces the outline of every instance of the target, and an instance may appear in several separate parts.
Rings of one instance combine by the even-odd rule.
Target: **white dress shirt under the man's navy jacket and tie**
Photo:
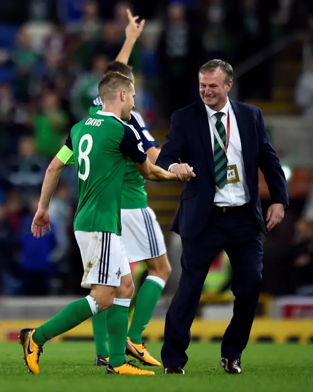
[[[213,123],[217,122],[217,118],[214,116],[217,113],[207,105],[205,105],[206,113],[210,116]],[[246,185],[246,172],[244,167],[244,160],[242,155],[241,140],[239,135],[239,129],[235,117],[235,113],[229,99],[227,98],[226,105],[220,112],[223,112],[222,123],[224,124],[225,131],[227,132],[227,115],[229,110],[229,145],[227,149],[227,158],[229,165],[236,165],[238,170],[239,182],[226,184],[222,189],[218,186],[215,189],[214,204],[219,207],[224,206],[239,206],[247,203],[250,200],[248,187]],[[209,123],[210,125],[210,123]],[[212,150],[214,154],[214,133],[210,125]]]

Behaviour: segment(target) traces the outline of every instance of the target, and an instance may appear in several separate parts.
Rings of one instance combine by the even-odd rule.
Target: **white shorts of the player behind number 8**
[[[122,241],[130,263],[166,253],[163,233],[150,208],[121,210]]]

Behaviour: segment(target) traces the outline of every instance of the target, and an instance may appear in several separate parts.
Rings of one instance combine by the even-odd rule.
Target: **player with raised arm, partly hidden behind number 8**
[[[117,56],[117,60],[108,65],[106,72],[117,71],[134,80],[132,69],[127,66],[132,48],[139,37],[143,23],[136,25],[128,11],[129,25],[126,28],[126,41]],[[89,113],[102,108],[100,97],[94,99]],[[140,135],[142,147],[152,163],[156,162],[159,150],[156,141],[146,128],[138,112],[132,110],[128,124],[134,126]],[[128,332],[126,353],[137,358],[144,365],[161,366],[151,356],[142,343],[142,332],[151,319],[157,301],[171,273],[171,266],[166,254],[166,246],[160,225],[154,211],[148,207],[145,180],[128,159],[122,186],[121,202],[122,241],[130,263],[145,261],[148,276],[140,287],[135,301],[134,315]],[[106,314],[101,313],[92,318],[93,334],[96,345],[96,366],[106,366],[109,356],[107,347]]]

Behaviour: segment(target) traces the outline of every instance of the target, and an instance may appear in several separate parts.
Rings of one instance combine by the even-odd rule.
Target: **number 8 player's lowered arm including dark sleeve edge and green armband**
[[[72,163],[73,150],[70,134],[67,137],[65,146],[63,146],[57,155],[52,159],[45,172],[38,210],[31,224],[31,232],[34,237],[44,237],[45,229],[50,231],[50,213],[49,205],[51,198],[56,190],[61,173]]]

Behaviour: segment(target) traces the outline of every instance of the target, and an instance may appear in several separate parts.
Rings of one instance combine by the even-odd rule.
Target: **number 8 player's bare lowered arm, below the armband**
[[[45,235],[45,229],[50,231],[49,205],[54,191],[58,185],[61,173],[67,167],[66,164],[54,157],[45,172],[38,210],[31,225],[31,232],[34,237],[40,238]]]

